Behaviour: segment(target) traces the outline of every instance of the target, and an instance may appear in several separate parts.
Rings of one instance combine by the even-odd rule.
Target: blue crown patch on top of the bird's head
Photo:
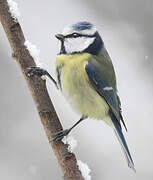
[[[76,31],[82,31],[85,29],[91,29],[93,25],[89,22],[82,21],[72,25],[72,28]]]

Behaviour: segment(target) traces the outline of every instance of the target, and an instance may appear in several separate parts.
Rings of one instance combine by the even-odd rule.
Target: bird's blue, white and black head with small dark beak
[[[103,48],[103,41],[96,27],[86,21],[68,26],[62,34],[55,36],[60,40],[60,54],[88,52],[97,55]]]

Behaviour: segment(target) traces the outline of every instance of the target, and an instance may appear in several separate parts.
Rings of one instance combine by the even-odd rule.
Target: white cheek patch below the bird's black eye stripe
[[[68,38],[64,42],[65,50],[67,53],[81,52],[93,43],[95,38]]]

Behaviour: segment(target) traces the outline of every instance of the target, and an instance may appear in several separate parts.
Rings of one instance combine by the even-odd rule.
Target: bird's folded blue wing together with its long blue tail
[[[101,75],[96,71],[91,61],[88,62],[88,64],[85,67],[85,70],[87,72],[87,75],[89,77],[89,80],[93,88],[97,91],[97,93],[100,96],[102,96],[105,99],[105,101],[110,107],[109,114],[115,127],[114,128],[115,134],[121,144],[126,160],[128,162],[128,166],[135,171],[134,163],[130,155],[130,152],[129,152],[126,140],[124,138],[124,135],[122,133],[121,125],[120,125],[120,120],[121,120],[123,122],[123,125],[125,126],[125,123],[121,115],[119,97],[116,91],[110,86],[110,84],[102,79]],[[126,129],[126,126],[125,126],[125,129]]]

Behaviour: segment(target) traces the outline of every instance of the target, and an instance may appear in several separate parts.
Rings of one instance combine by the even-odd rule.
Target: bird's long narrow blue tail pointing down
[[[117,138],[121,144],[121,147],[122,147],[124,155],[126,157],[128,166],[130,168],[132,168],[134,172],[136,172],[135,167],[134,167],[134,162],[132,160],[129,148],[127,146],[126,140],[125,140],[124,135],[122,133],[121,126],[120,126],[118,120],[116,120],[116,118],[113,115],[111,117],[112,117],[111,119],[113,121],[113,124],[115,126],[115,128],[114,128],[115,134],[116,134],[116,136],[117,136]]]

